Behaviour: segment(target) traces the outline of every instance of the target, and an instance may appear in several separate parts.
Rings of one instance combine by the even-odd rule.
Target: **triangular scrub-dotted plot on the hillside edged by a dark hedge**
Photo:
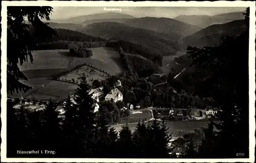
[[[80,83],[79,78],[82,76],[83,73],[85,73],[87,76],[88,84],[92,84],[95,79],[98,79],[99,81],[101,81],[101,80],[105,80],[108,77],[107,74],[100,72],[99,70],[96,70],[89,66],[83,66],[66,75],[60,76],[59,79],[64,81],[71,81],[71,82],[72,82],[72,79],[74,79],[75,83],[79,84]]]

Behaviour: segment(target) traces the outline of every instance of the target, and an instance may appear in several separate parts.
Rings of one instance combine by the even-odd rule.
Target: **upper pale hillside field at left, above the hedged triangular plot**
[[[32,51],[33,63],[25,62],[19,65],[19,68],[28,78],[49,77],[83,63],[97,67],[111,75],[123,71],[120,57],[115,49],[99,47],[91,48],[91,50],[93,56],[90,58],[72,57],[68,49],[35,50]]]

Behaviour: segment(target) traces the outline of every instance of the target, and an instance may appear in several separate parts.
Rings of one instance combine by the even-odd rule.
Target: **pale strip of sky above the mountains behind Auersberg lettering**
[[[114,11],[121,14],[129,14],[134,17],[168,17],[179,15],[217,15],[230,12],[244,12],[244,7],[107,7],[118,8]],[[80,15],[90,15],[104,12],[104,7],[53,7],[51,19],[65,19]]]

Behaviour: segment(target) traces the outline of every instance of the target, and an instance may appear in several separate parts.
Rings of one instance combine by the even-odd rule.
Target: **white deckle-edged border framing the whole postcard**
[[[6,158],[6,49],[7,49],[7,6],[88,6],[88,7],[250,7],[250,37],[249,37],[249,158],[236,159],[117,159],[117,158]],[[2,144],[1,158],[3,162],[254,162],[255,147],[255,3],[249,1],[218,1],[218,2],[130,2],[130,1],[2,1],[2,37],[1,37],[1,120],[2,120]],[[236,143],[236,142],[234,142]]]

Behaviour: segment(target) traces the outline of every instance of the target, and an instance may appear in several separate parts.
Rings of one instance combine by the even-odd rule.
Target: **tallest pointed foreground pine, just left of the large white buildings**
[[[86,77],[81,77],[81,82],[74,95],[74,103],[68,100],[66,103],[65,120],[63,121],[63,132],[67,132],[66,139],[69,140],[67,147],[72,156],[92,157],[96,153],[96,120],[93,108],[93,99],[89,95],[90,86]],[[68,104],[68,105],[67,105]],[[69,107],[69,108],[68,108]]]

